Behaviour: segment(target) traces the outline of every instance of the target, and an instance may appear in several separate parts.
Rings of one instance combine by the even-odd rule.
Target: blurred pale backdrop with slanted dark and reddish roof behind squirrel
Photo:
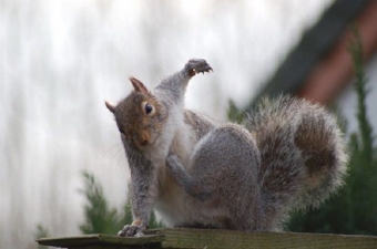
[[[82,170],[115,207],[129,170],[103,101],[149,87],[203,58],[186,106],[226,120],[262,95],[294,93],[335,104],[356,129],[347,44],[364,42],[367,105],[377,101],[375,0],[0,0],[0,248],[34,248],[38,224],[79,234]],[[373,127],[377,113],[368,110]]]

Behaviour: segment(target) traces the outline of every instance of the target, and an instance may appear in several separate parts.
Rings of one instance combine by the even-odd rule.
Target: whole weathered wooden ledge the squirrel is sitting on
[[[73,249],[89,248],[377,248],[375,236],[297,232],[243,232],[210,229],[162,229],[140,238],[90,235],[44,238],[40,245]]]

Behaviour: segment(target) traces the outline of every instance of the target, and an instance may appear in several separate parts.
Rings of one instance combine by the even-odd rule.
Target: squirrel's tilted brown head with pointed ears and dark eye
[[[162,133],[167,113],[142,82],[134,77],[130,77],[130,81],[134,91],[118,105],[109,102],[105,105],[115,116],[122,139],[139,149],[145,149]]]

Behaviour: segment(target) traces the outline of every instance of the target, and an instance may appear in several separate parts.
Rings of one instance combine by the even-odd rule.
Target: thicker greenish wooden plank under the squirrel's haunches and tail
[[[377,248],[377,237],[166,229],[162,248]]]

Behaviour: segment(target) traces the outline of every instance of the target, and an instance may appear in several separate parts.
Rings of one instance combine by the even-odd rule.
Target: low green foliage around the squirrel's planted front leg
[[[115,235],[124,225],[132,222],[129,203],[123,206],[122,211],[118,211],[116,208],[110,207],[103,195],[102,186],[94,176],[84,172],[83,177],[85,184],[82,194],[88,201],[84,206],[85,221],[80,226],[83,234]],[[154,214],[152,214],[149,228],[157,227],[162,227],[162,225],[156,221]]]

